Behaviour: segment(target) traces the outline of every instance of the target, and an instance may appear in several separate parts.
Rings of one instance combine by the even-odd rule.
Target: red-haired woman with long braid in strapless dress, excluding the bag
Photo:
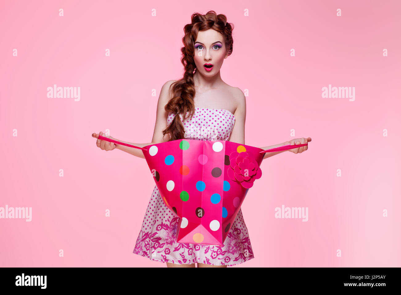
[[[191,19],[191,23],[184,26],[182,38],[184,77],[162,86],[152,142],[126,143],[143,147],[189,138],[245,144],[245,96],[241,89],[228,85],[220,76],[223,61],[233,51],[233,25],[227,22],[225,15],[214,11],[205,15],[194,13]],[[98,138],[99,134],[92,136]],[[311,139],[297,138],[261,149],[308,141]],[[96,144],[102,150],[117,148],[144,158],[139,149],[99,139]],[[289,151],[301,153],[306,149],[307,146],[302,146]],[[263,159],[278,153],[282,152],[266,153]],[[227,267],[254,258],[241,209],[224,246],[177,243],[178,219],[166,207],[155,185],[133,253],[166,262],[167,267],[195,267],[195,263],[198,267]]]

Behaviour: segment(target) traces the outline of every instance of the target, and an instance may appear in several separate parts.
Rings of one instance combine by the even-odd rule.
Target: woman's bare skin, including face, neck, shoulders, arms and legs
[[[224,109],[233,113],[235,116],[235,123],[228,141],[245,144],[245,116],[246,116],[245,96],[241,89],[239,89],[238,87],[232,87],[228,85],[221,79],[220,76],[220,68],[223,65],[224,59],[228,57],[225,44],[223,41],[224,41],[223,36],[219,32],[213,29],[198,32],[198,36],[194,43],[195,47],[194,62],[196,64],[196,72],[194,73],[193,77],[194,87],[196,90],[194,96],[194,104],[195,108]],[[211,71],[206,71],[205,67],[203,66],[205,63],[213,64],[213,69]],[[167,134],[165,136],[163,136],[162,134],[162,130],[164,130],[167,127],[166,121],[168,117],[167,112],[164,110],[164,106],[171,98],[168,89],[171,83],[173,83],[174,81],[175,80],[170,80],[164,83],[162,90],[160,91],[160,96],[157,106],[156,123],[152,142],[132,143],[119,140],[111,136],[107,137],[140,147],[168,141]],[[99,132],[98,134],[93,133],[92,136],[98,138],[99,134],[106,136],[102,132]],[[261,147],[261,149],[267,150],[287,144],[300,144],[300,143],[303,144],[310,141],[312,141],[310,137],[308,138],[302,137],[302,138],[292,139],[287,142],[275,144],[272,146],[264,146]],[[144,159],[144,155],[140,149],[134,149],[132,147],[124,146],[121,144],[115,144],[100,139],[97,139],[96,146],[105,151],[119,149],[126,153],[130,153],[131,155]],[[307,149],[308,146],[302,146],[288,151],[297,154],[297,153],[302,153]],[[279,151],[275,153],[265,153],[263,159],[283,152],[284,151]],[[166,264],[167,267],[195,267],[195,263],[174,264],[166,262]],[[227,265],[210,265],[210,264],[198,263],[198,267],[227,267]]]

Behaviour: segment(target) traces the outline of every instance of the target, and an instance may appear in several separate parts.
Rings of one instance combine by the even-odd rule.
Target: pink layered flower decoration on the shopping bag
[[[227,174],[230,179],[240,182],[243,187],[249,189],[253,186],[255,179],[262,176],[262,171],[255,159],[247,152],[232,152]]]

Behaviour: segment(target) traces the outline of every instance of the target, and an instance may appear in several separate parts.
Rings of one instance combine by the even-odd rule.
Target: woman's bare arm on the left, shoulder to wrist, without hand
[[[162,86],[162,90],[160,91],[159,100],[158,100],[158,103],[157,103],[156,123],[154,125],[154,132],[153,132],[152,142],[148,142],[148,143],[132,143],[132,142],[127,142],[127,141],[119,140],[119,139],[116,139],[116,140],[124,142],[124,143],[131,144],[131,145],[139,146],[139,147],[144,147],[144,146],[147,146],[147,145],[150,145],[150,144],[166,142],[166,141],[168,141],[170,139],[168,134],[166,134],[163,137],[163,132],[162,131],[167,127],[167,116],[168,116],[168,114],[164,110],[164,106],[166,106],[166,104],[170,100],[169,89],[170,89],[170,85],[174,81],[175,80],[170,80],[170,81],[167,81],[166,83],[164,83],[164,85]],[[121,144],[117,144],[117,146],[115,148],[119,149],[121,151],[124,151],[126,153],[129,153],[131,155],[134,155],[136,157],[140,157],[142,159],[145,159],[144,153],[142,153],[142,150],[140,150],[140,149],[135,149],[135,148],[132,148],[132,147],[129,147],[129,146],[121,145]]]

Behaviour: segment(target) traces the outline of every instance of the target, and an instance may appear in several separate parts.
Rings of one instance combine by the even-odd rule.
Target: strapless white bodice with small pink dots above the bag
[[[175,116],[168,114],[167,125]],[[184,126],[184,138],[198,140],[229,140],[235,123],[234,114],[225,109],[195,108],[192,118],[186,118],[184,122],[180,114],[180,119]]]

